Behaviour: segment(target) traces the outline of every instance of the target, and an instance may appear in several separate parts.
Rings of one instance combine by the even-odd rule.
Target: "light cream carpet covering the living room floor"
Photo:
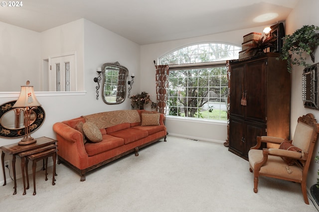
[[[86,176],[57,165],[56,185],[44,171],[22,195],[22,180],[0,186],[1,212],[317,212],[304,203],[300,184],[261,177],[253,192],[248,162],[221,143],[167,136],[136,157],[112,162]],[[30,175],[30,179],[31,175]]]

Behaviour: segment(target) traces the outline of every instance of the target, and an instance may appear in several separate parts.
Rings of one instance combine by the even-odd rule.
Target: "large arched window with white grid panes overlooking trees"
[[[228,80],[226,60],[238,59],[241,47],[195,44],[160,58],[169,65],[166,115],[227,120]]]

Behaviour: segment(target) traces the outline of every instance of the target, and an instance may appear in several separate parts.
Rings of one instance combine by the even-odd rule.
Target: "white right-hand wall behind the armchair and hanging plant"
[[[286,20],[286,34],[292,34],[303,25],[319,26],[318,16],[319,1],[318,0],[300,0],[296,8],[291,12]],[[308,56],[308,58],[310,58]],[[315,63],[319,62],[319,50],[315,54]],[[309,63],[312,61],[309,59]],[[294,134],[299,116],[307,113],[313,113],[319,122],[319,111],[315,109],[305,108],[302,101],[302,74],[303,66],[294,66],[292,70],[292,111],[291,111],[291,135]],[[313,161],[308,173],[308,188],[314,185],[319,178],[317,171],[319,165],[314,162],[314,158],[318,155],[319,142],[317,142],[314,150]]]

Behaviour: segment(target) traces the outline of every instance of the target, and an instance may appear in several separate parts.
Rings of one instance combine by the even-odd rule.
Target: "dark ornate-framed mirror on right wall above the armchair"
[[[303,102],[305,107],[319,109],[319,63],[304,69]]]

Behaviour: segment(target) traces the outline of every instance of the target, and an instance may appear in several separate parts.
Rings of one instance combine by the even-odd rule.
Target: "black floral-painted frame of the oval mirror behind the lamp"
[[[10,129],[10,128],[3,126],[1,123],[2,116],[6,112],[13,109],[12,106],[14,105],[15,102],[16,102],[16,100],[0,105],[0,137],[17,138],[17,137],[23,137],[25,135],[24,127]],[[36,116],[35,116],[35,120],[32,122],[32,127],[30,127],[30,133],[37,130],[43,124],[44,119],[45,119],[45,112],[41,106],[37,106],[36,108],[33,109],[33,111],[35,112]],[[15,117],[13,117],[13,118],[15,118]]]

